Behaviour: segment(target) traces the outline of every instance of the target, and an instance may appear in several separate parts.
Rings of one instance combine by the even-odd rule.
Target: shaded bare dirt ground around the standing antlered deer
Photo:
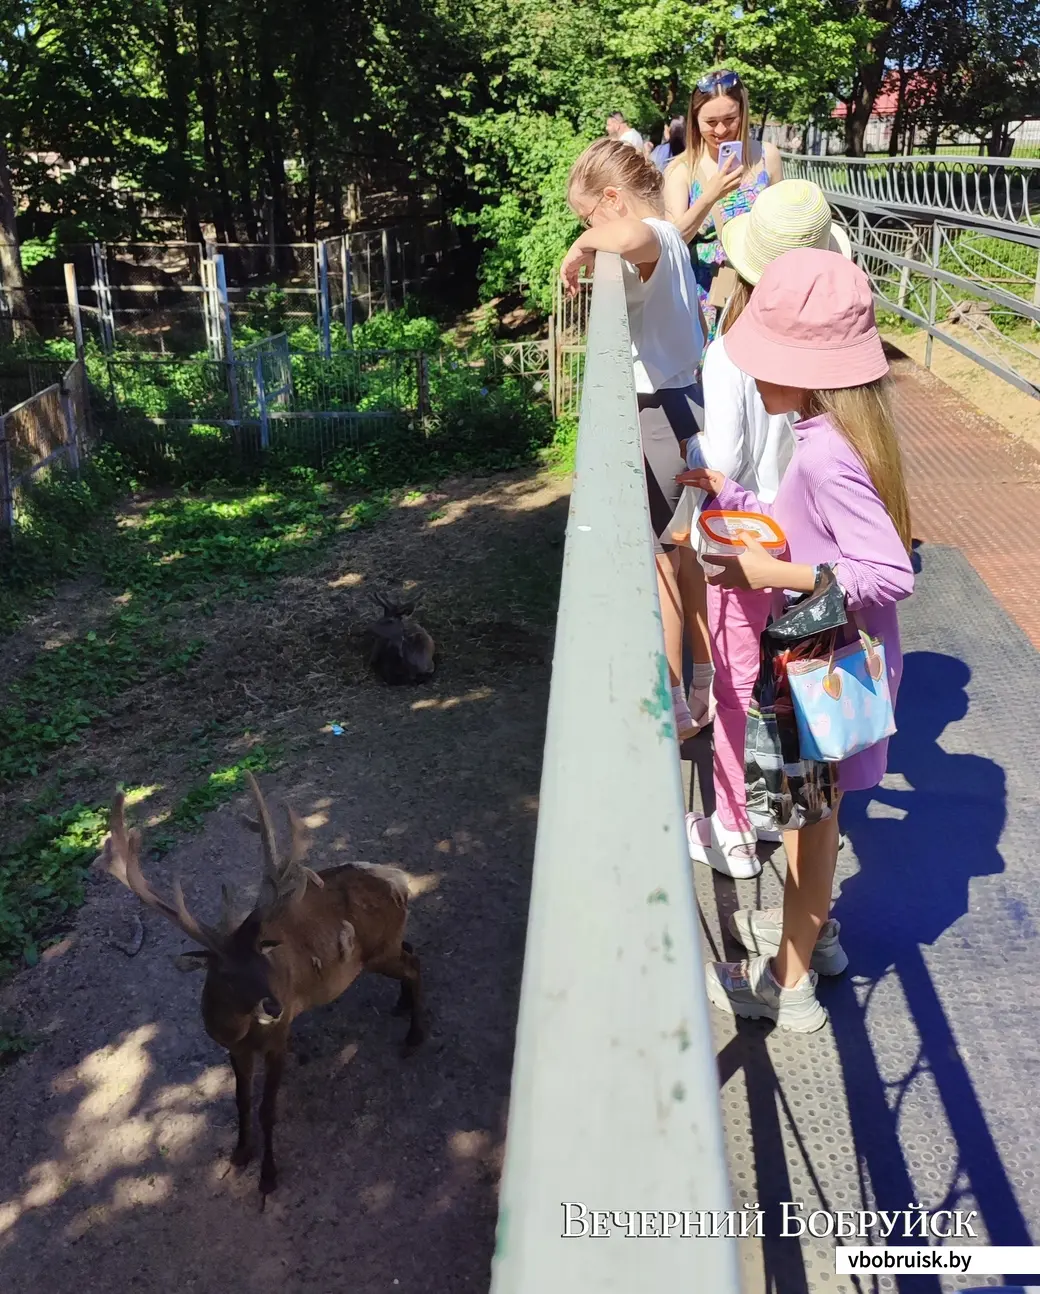
[[[206,622],[200,668],[244,683],[257,726],[281,726],[288,756],[260,780],[309,817],[312,862],[413,877],[431,1036],[402,1058],[396,985],[375,977],[298,1022],[281,1184],[260,1212],[256,1166],[228,1171],[233,1083],[200,1025],[199,977],[171,965],[185,941],[145,911],[140,952],[118,951],[140,905],[92,880],[67,938],[0,994],[38,1039],[0,1073],[4,1294],[43,1272],[52,1294],[486,1290],[567,488],[530,474],[449,484],[322,550],[283,581],[281,619],[239,603]],[[444,659],[433,683],[391,690],[351,633],[373,586],[411,582]],[[147,704],[177,730],[176,692]],[[145,752],[123,752],[128,783],[155,780],[133,766]],[[158,885],[180,875],[203,916],[221,881],[259,876],[244,806],[151,864]]]

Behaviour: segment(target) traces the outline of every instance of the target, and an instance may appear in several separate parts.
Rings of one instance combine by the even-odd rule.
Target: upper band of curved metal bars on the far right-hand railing
[[[783,157],[788,179],[815,181],[841,206],[947,219],[997,234],[1040,232],[1040,159]]]

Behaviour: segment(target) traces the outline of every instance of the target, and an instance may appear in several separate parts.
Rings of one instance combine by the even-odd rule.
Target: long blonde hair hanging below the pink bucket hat
[[[863,459],[867,475],[893,519],[907,553],[912,546],[909,498],[903,477],[903,455],[889,404],[889,382],[880,378],[863,387],[814,391],[810,414],[827,414]]]

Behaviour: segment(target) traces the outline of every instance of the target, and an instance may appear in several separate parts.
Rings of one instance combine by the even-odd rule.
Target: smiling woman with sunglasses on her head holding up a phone
[[[740,76],[709,72],[689,98],[686,151],[665,172],[665,212],[691,245],[709,342],[720,313],[709,296],[726,264],[719,230],[727,220],[750,211],[758,194],[783,179],[779,151],[772,144],[753,142],[748,124],[748,91]],[[719,167],[719,145],[737,142],[742,163],[730,157]]]

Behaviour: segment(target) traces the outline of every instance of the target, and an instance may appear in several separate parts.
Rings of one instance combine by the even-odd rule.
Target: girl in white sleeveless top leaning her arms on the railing
[[[679,554],[665,532],[682,492],[677,476],[686,466],[684,445],[701,431],[696,373],[704,321],[689,254],[675,226],[665,220],[662,182],[661,172],[627,144],[598,140],[590,145],[574,163],[567,188],[567,201],[585,233],[564,258],[560,278],[573,294],[582,265],[591,272],[598,251],[622,258],[665,655],[682,741],[697,725],[683,691]],[[710,656],[706,633],[705,650]]]

